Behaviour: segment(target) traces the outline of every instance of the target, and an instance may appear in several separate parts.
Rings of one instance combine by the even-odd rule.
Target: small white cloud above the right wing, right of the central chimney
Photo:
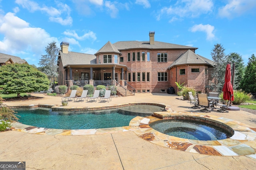
[[[202,31],[206,33],[206,39],[207,40],[212,40],[214,39],[215,35],[212,33],[214,31],[214,26],[212,25],[194,25],[193,27],[190,28],[191,32],[196,32],[196,31]]]

